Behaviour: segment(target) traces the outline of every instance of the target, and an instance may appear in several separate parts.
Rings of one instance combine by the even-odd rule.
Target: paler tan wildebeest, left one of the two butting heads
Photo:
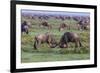
[[[34,49],[40,47],[41,44],[47,43],[50,48],[54,48],[57,45],[57,42],[54,39],[54,36],[50,33],[39,34],[34,38]]]

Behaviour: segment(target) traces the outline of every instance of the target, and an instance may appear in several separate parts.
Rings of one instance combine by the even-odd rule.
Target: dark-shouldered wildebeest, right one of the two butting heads
[[[82,46],[82,44],[80,42],[80,37],[76,33],[65,32],[60,39],[59,47],[60,48],[68,48],[69,42],[74,42],[75,47]]]

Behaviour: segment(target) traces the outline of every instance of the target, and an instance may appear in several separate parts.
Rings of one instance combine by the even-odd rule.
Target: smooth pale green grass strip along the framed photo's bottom
[[[54,52],[22,52],[22,62],[48,62],[48,61],[69,61],[69,60],[86,60],[89,54],[61,54]]]

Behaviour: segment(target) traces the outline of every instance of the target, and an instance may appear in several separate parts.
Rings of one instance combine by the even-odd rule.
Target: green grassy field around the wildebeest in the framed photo
[[[48,28],[40,28],[39,24],[42,22],[38,19],[25,19],[22,18],[22,21],[27,20],[32,23],[32,27],[29,29],[29,34],[22,34],[21,36],[21,62],[47,62],[47,61],[71,61],[71,60],[86,60],[90,58],[90,46],[89,46],[89,30],[79,31],[76,28],[76,21],[74,20],[56,20],[49,19],[47,22],[53,26],[51,30]],[[61,23],[70,24],[70,30],[64,30],[59,32],[58,27]],[[64,32],[70,31],[77,33],[80,38],[83,47],[75,48],[74,43],[69,43],[68,48],[49,48],[47,44],[42,44],[38,50],[34,50],[34,36],[40,33],[50,32],[55,36],[57,42],[59,42],[61,36]],[[76,51],[79,49],[79,51]]]

